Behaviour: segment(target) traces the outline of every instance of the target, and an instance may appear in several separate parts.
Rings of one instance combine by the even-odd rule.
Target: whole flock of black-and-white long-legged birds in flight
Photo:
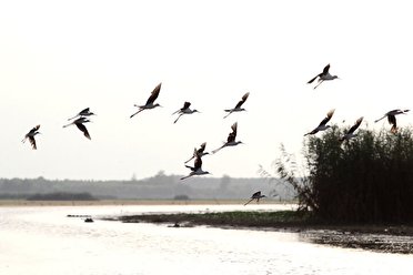
[[[319,74],[316,74],[314,78],[312,78],[308,83],[311,84],[313,83],[315,80],[318,81],[318,83],[314,85],[313,89],[316,89],[320,84],[322,84],[324,81],[330,81],[330,80],[334,80],[334,79],[339,79],[338,75],[332,75],[330,74],[330,64],[328,64],[323,71]],[[139,114],[140,112],[144,111],[144,110],[150,110],[150,109],[154,109],[157,106],[160,106],[159,103],[155,103],[155,100],[158,99],[159,96],[159,93],[161,91],[161,85],[162,83],[158,84],[151,95],[148,98],[147,100],[147,103],[144,105],[134,105],[138,108],[138,111],[133,114],[130,115],[130,118],[132,119],[133,116],[135,116],[137,114]],[[241,111],[245,111],[245,109],[242,108],[242,105],[245,103],[245,101],[248,100],[250,93],[246,92],[242,98],[241,100],[236,103],[236,105],[232,109],[225,109],[224,111],[228,113],[225,116],[223,116],[224,119],[228,118],[230,114],[234,113],[234,112],[241,112]],[[325,131],[328,130],[329,128],[331,128],[330,125],[328,125],[329,121],[332,119],[333,114],[334,114],[334,109],[330,110],[326,114],[326,116],[320,122],[320,124],[313,129],[311,132],[308,132],[304,134],[304,136],[306,135],[313,135],[313,134],[316,134],[318,132],[321,132],[321,131]],[[391,132],[392,133],[396,133],[397,131],[397,124],[396,124],[396,115],[399,114],[405,114],[407,113],[410,110],[400,110],[400,109],[396,109],[396,110],[392,110],[392,111],[389,111],[386,112],[382,118],[375,120],[374,122],[379,122],[381,121],[382,119],[384,118],[387,118],[387,121],[389,123],[392,125],[391,128]],[[172,115],[175,115],[178,114],[178,118],[174,120],[173,123],[177,123],[178,120],[184,115],[184,114],[193,114],[193,113],[197,113],[199,112],[198,110],[195,109],[191,109],[191,103],[190,102],[184,102],[183,106],[179,110],[177,110],[175,112],[172,113]],[[73,118],[70,118],[68,119],[69,121],[71,121],[69,124],[66,124],[63,125],[63,128],[68,128],[70,125],[75,125],[82,133],[83,135],[91,140],[90,138],[90,134],[88,132],[88,129],[85,128],[85,123],[88,122],[91,122],[89,120],[89,118],[91,115],[95,115],[94,113],[90,112],[90,109],[87,108],[82,111],[80,111],[77,115],[74,115]],[[351,126],[346,133],[339,140],[340,142],[344,142],[344,141],[349,141],[353,138],[355,138],[357,134],[355,133],[355,131],[359,129],[359,126],[361,125],[363,121],[363,116],[361,116],[360,119],[356,120],[356,122],[354,123],[353,126]],[[34,126],[33,129],[31,129],[26,135],[24,135],[24,139],[22,140],[22,142],[24,142],[26,140],[29,140],[31,145],[32,145],[32,149],[36,150],[37,149],[37,144],[36,144],[36,139],[34,136],[37,134],[40,134],[39,132],[39,129],[40,129],[40,125],[37,125]],[[231,126],[231,132],[229,133],[228,138],[226,138],[226,142],[224,142],[222,144],[222,146],[213,150],[211,153],[212,154],[215,154],[218,151],[224,149],[224,147],[228,147],[228,146],[236,146],[239,144],[242,144],[241,141],[236,141],[236,129],[238,129],[238,123],[233,123],[232,126]],[[208,152],[205,152],[205,146],[206,146],[206,143],[202,143],[200,145],[199,149],[194,149],[193,151],[193,155],[184,162],[185,164],[185,167],[188,167],[191,172],[187,175],[187,176],[183,176],[181,177],[181,180],[185,180],[188,177],[191,177],[191,176],[194,176],[194,175],[204,175],[204,174],[210,174],[208,171],[203,171],[202,170],[202,156],[209,154]],[[187,165],[188,162],[194,160],[193,162],[193,166],[189,166]],[[255,192],[254,194],[252,194],[252,196],[250,197],[250,201],[246,202],[244,205],[249,204],[251,201],[255,200],[256,202],[259,202],[262,197],[265,197],[265,195],[262,195],[261,194],[261,191],[259,192]]]

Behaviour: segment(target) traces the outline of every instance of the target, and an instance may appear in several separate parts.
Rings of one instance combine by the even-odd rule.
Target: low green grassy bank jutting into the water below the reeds
[[[172,223],[184,226],[210,225],[229,227],[284,228],[289,231],[332,230],[351,233],[374,233],[413,236],[413,224],[340,224],[315,218],[296,211],[233,211],[211,213],[142,214],[118,217],[124,223]]]

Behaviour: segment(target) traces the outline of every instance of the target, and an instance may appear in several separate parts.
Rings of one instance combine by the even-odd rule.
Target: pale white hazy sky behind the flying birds
[[[411,1],[1,1],[0,177],[138,179],[188,174],[193,147],[213,176],[258,176],[280,143],[335,108],[333,123],[412,108]],[[341,80],[306,84],[331,63]],[[162,82],[163,108],[133,119]],[[225,120],[250,92],[242,113]],[[171,114],[184,101],[202,113]],[[92,141],[67,119],[84,108]],[[413,113],[399,119],[410,125]],[[41,124],[38,150],[21,143]],[[362,128],[366,128],[365,123]]]

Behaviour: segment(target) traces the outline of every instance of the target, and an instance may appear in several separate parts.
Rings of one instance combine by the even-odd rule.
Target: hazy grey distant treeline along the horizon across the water
[[[88,193],[95,198],[122,200],[188,200],[198,198],[246,198],[262,191],[270,198],[275,195],[274,185],[266,179],[236,179],[200,176],[180,181],[180,175],[157,175],[130,181],[74,181],[38,179],[0,179],[0,198],[21,198],[36,194]],[[276,200],[291,200],[294,192],[276,192]]]

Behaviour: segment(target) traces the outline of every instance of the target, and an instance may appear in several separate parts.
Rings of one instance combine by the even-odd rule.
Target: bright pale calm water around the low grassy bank
[[[251,205],[251,208],[273,205]],[[171,228],[95,220],[214,206],[0,207],[0,274],[412,274],[413,256],[322,246],[298,233]]]

